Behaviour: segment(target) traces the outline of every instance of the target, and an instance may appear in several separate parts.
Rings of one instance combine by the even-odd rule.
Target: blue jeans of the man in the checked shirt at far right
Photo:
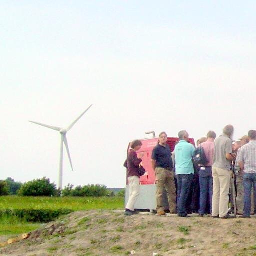
[[[244,187],[243,215],[250,216],[250,207],[251,207],[250,206],[250,194],[251,194],[251,187],[253,187],[254,194],[256,192],[256,174],[255,173],[244,173],[243,174],[243,187]]]

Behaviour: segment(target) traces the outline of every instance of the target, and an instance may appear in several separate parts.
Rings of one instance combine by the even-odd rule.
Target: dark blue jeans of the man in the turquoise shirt
[[[191,183],[193,181],[193,176],[194,176],[194,174],[178,174],[178,175],[176,175],[177,182],[178,182],[177,208],[178,208],[179,216],[187,215],[186,201],[187,201],[187,196],[189,193]]]

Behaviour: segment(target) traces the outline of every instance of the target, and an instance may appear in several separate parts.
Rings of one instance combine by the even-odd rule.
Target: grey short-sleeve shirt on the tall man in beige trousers
[[[214,141],[212,167],[230,170],[231,162],[226,159],[226,154],[228,153],[232,153],[232,140],[223,134]]]

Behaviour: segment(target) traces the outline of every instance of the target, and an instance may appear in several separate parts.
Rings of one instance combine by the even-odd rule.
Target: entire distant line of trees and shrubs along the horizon
[[[124,196],[124,189],[108,189],[105,185],[88,184],[74,187],[68,184],[60,191],[55,183],[50,183],[50,179],[43,177],[25,182],[15,182],[11,177],[0,180],[0,195],[20,195],[20,196]]]

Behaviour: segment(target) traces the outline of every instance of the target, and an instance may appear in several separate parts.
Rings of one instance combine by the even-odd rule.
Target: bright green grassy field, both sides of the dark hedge
[[[123,209],[123,197],[22,197],[0,196],[0,209]],[[29,223],[16,217],[0,217],[0,236],[16,235],[37,229],[40,223]]]

